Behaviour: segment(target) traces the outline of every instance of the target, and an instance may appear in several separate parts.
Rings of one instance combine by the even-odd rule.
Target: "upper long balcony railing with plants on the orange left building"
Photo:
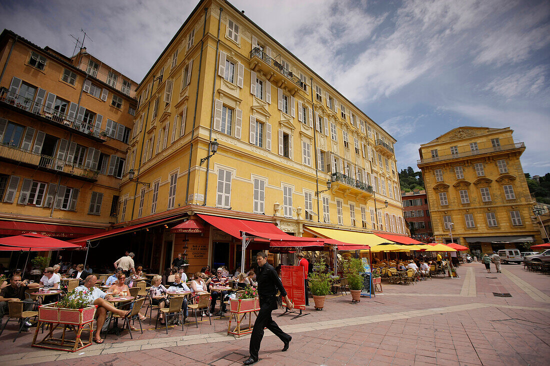
[[[44,96],[46,97],[46,96]],[[67,109],[69,109],[70,102],[61,106],[49,106],[33,101],[25,96],[9,92],[7,88],[0,89],[0,102],[9,104],[10,106],[20,108],[26,112],[36,114],[39,117],[49,119],[53,122],[68,127],[70,129],[81,132],[81,134],[94,137],[98,141],[107,140],[107,132],[95,128],[93,122],[87,122],[77,117],[76,111],[74,115],[69,115]]]

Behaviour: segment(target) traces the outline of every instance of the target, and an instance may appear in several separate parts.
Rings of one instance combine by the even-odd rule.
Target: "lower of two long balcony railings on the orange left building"
[[[0,144],[0,158],[13,160],[14,162],[21,164],[32,165],[34,167],[40,167],[45,170],[56,170],[78,178],[85,178],[89,181],[97,180],[97,170],[88,169],[83,165],[74,164],[73,162],[67,162],[65,160],[56,159],[43,154],[37,154],[5,143]]]

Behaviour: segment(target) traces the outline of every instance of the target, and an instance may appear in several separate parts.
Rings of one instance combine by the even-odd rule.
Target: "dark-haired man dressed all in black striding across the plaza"
[[[277,309],[277,290],[281,291],[284,296],[284,301],[287,303],[287,309],[292,310],[292,302],[288,298],[287,291],[284,290],[283,284],[277,271],[273,266],[267,263],[267,254],[259,252],[256,254],[256,262],[258,270],[256,280],[258,282],[258,294],[260,296],[260,311],[254,322],[254,329],[250,337],[250,357],[244,362],[245,365],[251,365],[258,362],[258,351],[260,351],[260,343],[263,337],[263,328],[267,328],[279,337],[284,343],[283,352],[288,350],[288,346],[292,337],[285,332],[271,318],[271,312]]]

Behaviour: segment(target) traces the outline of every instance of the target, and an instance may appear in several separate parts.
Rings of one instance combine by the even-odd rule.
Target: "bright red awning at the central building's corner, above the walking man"
[[[263,221],[231,219],[227,217],[211,216],[198,214],[199,217],[205,220],[208,224],[216,226],[219,230],[227,232],[227,234],[243,239],[241,232],[245,232],[247,236],[256,236],[270,240],[270,246],[274,247],[308,247],[322,246],[323,239],[314,239],[311,237],[298,237],[287,234],[277,228],[273,223],[265,223]]]

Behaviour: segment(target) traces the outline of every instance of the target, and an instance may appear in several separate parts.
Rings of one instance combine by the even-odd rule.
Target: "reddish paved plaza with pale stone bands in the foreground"
[[[503,265],[502,272],[488,274],[482,264],[470,263],[458,268],[460,279],[384,283],[383,293],[357,304],[349,293],[329,296],[323,311],[311,307],[300,318],[275,318],[293,336],[290,349],[281,352],[282,342],[266,330],[257,365],[547,365],[550,277],[523,265]],[[227,317],[213,317],[212,325],[206,318],[198,329],[186,324],[166,335],[146,320],[144,334],[133,332],[133,340],[125,331],[76,353],[31,347],[35,328],[12,343],[9,325],[0,364],[242,364],[249,337],[228,336],[227,325]]]

